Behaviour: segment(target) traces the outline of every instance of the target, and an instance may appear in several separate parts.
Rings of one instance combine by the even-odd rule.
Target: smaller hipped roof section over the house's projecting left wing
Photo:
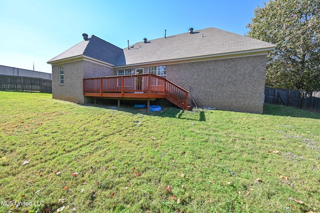
[[[104,41],[95,35],[91,35],[89,36],[88,40],[82,40],[61,54],[50,59],[48,63],[65,58],[84,55],[114,65],[116,64],[120,54],[122,54],[121,48]]]

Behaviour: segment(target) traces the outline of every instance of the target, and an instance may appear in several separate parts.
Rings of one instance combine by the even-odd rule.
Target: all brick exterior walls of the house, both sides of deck
[[[193,99],[198,107],[262,113],[266,61],[258,55],[163,65],[166,78],[189,91],[190,105]],[[59,66],[52,66],[52,97],[79,104],[90,101],[82,95],[83,78],[114,76],[119,69],[85,60],[63,65],[64,85],[58,82]],[[147,73],[148,66],[142,67]]]

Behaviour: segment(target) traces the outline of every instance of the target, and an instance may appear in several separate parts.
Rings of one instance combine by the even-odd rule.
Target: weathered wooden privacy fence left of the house
[[[52,81],[43,78],[0,75],[0,90],[52,92]]]

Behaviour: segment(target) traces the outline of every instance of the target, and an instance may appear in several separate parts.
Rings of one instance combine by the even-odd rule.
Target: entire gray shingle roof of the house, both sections
[[[132,45],[131,45],[132,46]],[[157,38],[121,49],[94,35],[50,59],[48,63],[87,56],[115,66],[272,49],[273,44],[214,27]]]

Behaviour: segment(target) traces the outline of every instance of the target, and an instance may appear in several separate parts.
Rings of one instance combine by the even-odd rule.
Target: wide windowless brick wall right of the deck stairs
[[[198,107],[262,113],[266,55],[167,65],[167,79]]]

